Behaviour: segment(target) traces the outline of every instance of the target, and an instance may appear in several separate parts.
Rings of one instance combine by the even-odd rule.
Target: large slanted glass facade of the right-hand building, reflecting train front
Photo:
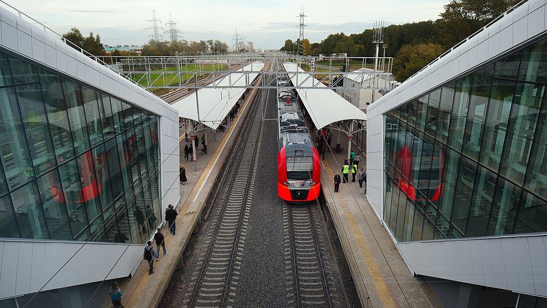
[[[397,241],[547,231],[547,39],[385,114]]]

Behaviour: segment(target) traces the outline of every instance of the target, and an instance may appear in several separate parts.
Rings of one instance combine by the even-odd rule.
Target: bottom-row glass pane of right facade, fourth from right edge
[[[463,157],[459,162],[452,218],[450,220],[462,234],[465,233],[467,227],[469,206],[475,184],[476,166],[475,162]]]

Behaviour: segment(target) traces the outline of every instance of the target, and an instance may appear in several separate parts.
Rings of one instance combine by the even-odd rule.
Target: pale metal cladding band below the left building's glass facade
[[[126,249],[127,245],[0,241],[0,298],[126,277],[141,260],[144,247],[131,244]]]

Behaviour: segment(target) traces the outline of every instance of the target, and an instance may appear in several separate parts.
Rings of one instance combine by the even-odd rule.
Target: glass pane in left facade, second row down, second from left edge
[[[17,86],[15,93],[27,133],[34,171],[36,175],[42,175],[56,166],[42,93],[38,84]]]

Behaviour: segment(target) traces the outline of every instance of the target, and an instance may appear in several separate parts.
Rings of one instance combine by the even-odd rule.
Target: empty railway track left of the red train
[[[215,223],[210,224],[208,241],[194,265],[184,307],[231,307],[234,303],[260,153],[262,121],[258,110],[264,106],[259,99],[238,135],[228,175],[220,184],[220,206],[210,219]]]

